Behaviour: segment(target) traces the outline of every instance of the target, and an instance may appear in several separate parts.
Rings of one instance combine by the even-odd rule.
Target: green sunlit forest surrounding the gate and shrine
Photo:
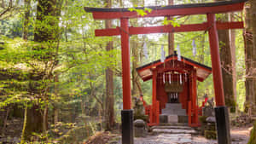
[[[121,38],[95,35],[96,29],[120,26],[120,20],[94,20],[84,7],[131,8],[143,16],[151,9],[134,8],[221,1],[225,0],[1,0],[0,143],[120,141]],[[230,127],[247,130],[243,142],[249,144],[256,143],[255,11],[256,1],[248,0],[242,11],[216,14],[218,22],[244,21],[243,29],[219,30],[218,40]],[[134,18],[129,25],[178,27],[206,21],[206,14],[196,14]],[[207,31],[130,37],[134,111],[142,95],[143,101],[153,103],[152,79],[143,82],[137,68],[174,51],[212,67]],[[210,74],[196,82],[199,107],[206,95],[214,99],[213,80]]]

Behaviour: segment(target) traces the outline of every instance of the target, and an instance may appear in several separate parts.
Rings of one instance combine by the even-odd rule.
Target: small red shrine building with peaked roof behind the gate
[[[197,101],[197,81],[203,82],[212,68],[177,54],[169,55],[164,62],[156,60],[137,68],[143,81],[152,79],[152,105],[145,101],[148,125],[160,123],[188,123],[199,126],[201,107]],[[205,101],[202,103],[204,106]]]

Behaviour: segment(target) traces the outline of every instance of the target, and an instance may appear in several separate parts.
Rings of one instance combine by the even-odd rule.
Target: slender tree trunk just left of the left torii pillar
[[[112,1],[106,0],[107,8],[111,8]],[[105,22],[106,28],[112,27],[112,20],[106,20]],[[108,42],[107,51],[113,50],[113,41]],[[113,96],[113,71],[111,68],[107,68],[106,70],[106,112],[105,112],[105,119],[106,119],[106,130],[112,130],[114,126],[114,96]]]

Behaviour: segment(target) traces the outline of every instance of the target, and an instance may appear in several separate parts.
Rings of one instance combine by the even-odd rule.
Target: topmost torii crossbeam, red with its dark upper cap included
[[[106,20],[106,19],[120,19],[120,18],[137,18],[137,17],[159,17],[159,16],[175,16],[175,15],[189,15],[189,14],[218,14],[228,13],[233,11],[241,11],[244,6],[244,1],[241,3],[229,3],[219,4],[210,6],[210,3],[204,3],[204,7],[191,4],[191,7],[186,5],[176,5],[170,7],[170,9],[153,9],[151,13],[146,15],[138,15],[137,12],[130,12],[128,9],[111,9],[106,11],[105,9],[84,8],[87,12],[92,12],[95,20]],[[179,6],[179,7],[178,7]]]

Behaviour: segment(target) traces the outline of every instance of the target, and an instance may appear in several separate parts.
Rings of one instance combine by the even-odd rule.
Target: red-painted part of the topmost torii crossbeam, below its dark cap
[[[159,17],[159,16],[175,16],[189,14],[218,14],[232,11],[241,11],[244,3],[233,3],[229,5],[219,5],[212,7],[183,8],[183,9],[158,9],[152,10],[144,16],[137,15],[137,12],[92,12],[93,18],[96,20],[120,19],[120,18],[137,18],[137,17]]]

